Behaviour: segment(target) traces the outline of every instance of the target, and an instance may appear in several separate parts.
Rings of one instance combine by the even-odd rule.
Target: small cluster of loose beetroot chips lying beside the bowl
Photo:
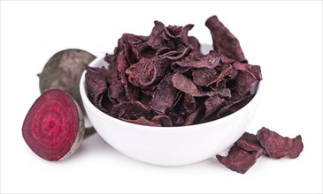
[[[273,159],[287,157],[296,159],[304,148],[302,137],[282,137],[275,131],[263,127],[256,135],[245,132],[228,151],[227,157],[217,155],[217,159],[227,168],[238,173],[246,173],[261,155]]]

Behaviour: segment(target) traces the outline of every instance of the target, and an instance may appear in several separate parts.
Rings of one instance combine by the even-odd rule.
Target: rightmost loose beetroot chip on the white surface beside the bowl
[[[265,127],[257,132],[257,138],[264,147],[265,152],[271,158],[280,159],[288,157],[295,159],[302,153],[304,145],[300,135],[296,138],[282,137],[280,134],[270,131]]]

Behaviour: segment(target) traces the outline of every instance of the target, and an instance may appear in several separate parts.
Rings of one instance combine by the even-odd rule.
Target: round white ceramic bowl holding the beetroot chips
[[[92,67],[108,65],[104,56],[89,64]],[[171,167],[206,160],[235,143],[258,107],[261,87],[259,84],[255,97],[234,114],[183,127],[143,126],[104,114],[88,100],[85,73],[80,90],[89,121],[107,143],[135,160]]]

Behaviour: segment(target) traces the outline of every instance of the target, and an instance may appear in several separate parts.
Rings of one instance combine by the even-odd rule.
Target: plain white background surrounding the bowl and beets
[[[36,73],[61,49],[101,56],[123,33],[149,35],[153,21],[195,24],[189,32],[211,43],[204,22],[219,19],[261,65],[263,93],[247,131],[262,126],[295,137],[295,160],[262,157],[245,174],[215,157],[180,168],[132,160],[97,134],[59,162],[42,160],[21,136],[40,95]],[[322,2],[18,2],[1,1],[1,192],[322,192]]]

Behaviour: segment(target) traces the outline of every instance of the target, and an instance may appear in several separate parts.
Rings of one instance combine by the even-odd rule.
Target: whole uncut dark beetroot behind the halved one
[[[72,95],[85,113],[80,94],[81,74],[96,56],[81,49],[65,49],[50,57],[39,76],[41,93],[48,89],[61,89]]]

